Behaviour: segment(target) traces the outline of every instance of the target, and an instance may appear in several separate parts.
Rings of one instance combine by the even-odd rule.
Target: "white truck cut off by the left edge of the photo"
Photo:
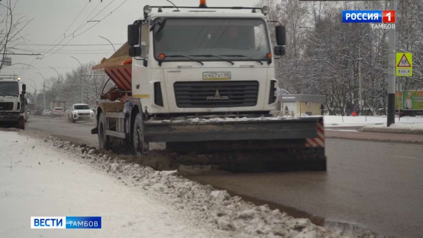
[[[0,124],[25,129],[26,85],[19,89],[18,78],[0,78]]]

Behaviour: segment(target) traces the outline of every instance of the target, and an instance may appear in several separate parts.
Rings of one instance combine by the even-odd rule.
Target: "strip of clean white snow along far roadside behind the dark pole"
[[[386,116],[324,116],[325,127],[364,127],[386,123]],[[423,124],[423,116],[395,117],[395,124]]]

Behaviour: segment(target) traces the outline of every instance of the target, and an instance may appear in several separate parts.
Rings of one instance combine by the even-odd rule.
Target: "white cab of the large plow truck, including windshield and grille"
[[[159,117],[275,110],[274,55],[284,48],[271,48],[266,16],[205,10],[151,10],[129,26],[132,97]]]

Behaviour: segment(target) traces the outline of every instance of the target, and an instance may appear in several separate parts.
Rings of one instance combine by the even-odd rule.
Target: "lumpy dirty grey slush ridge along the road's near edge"
[[[27,133],[27,132],[24,132]],[[107,172],[121,183],[134,187],[152,200],[175,207],[178,216],[195,220],[204,229],[223,232],[218,237],[337,238],[340,237],[307,219],[294,219],[267,205],[256,206],[178,175],[177,170],[156,171],[86,145],[53,137],[44,139],[60,153],[73,154],[79,162]],[[123,158],[123,159],[122,159]],[[130,198],[128,198],[130,199]]]

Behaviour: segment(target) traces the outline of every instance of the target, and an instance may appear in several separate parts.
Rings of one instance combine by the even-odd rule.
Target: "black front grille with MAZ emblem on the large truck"
[[[178,108],[251,107],[257,104],[258,81],[176,82]]]

